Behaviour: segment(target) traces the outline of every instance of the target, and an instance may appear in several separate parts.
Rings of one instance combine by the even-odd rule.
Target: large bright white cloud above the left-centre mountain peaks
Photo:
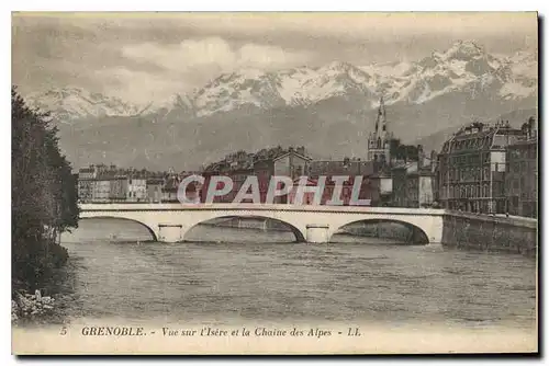
[[[168,100],[176,93],[191,92],[220,73],[243,68],[280,69],[302,65],[312,55],[285,52],[281,47],[245,44],[232,46],[221,37],[186,39],[177,45],[141,43],[122,48],[123,57],[161,68],[147,72],[113,67],[94,72],[98,81],[111,85],[110,93],[134,103]]]

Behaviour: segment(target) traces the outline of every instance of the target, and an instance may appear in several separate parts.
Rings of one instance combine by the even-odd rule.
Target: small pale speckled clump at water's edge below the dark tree
[[[24,290],[16,291],[11,300],[11,321],[19,323],[45,318],[53,313],[54,308],[55,299],[53,297],[42,296],[40,291],[34,295]]]

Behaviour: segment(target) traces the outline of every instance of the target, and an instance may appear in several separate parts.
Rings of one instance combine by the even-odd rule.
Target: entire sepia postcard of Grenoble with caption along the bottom
[[[12,353],[538,353],[538,67],[536,12],[12,12]]]

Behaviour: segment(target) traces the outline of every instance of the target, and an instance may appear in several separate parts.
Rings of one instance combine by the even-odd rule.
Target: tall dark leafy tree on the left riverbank
[[[35,287],[67,260],[56,239],[78,226],[77,185],[48,114],[25,105],[15,88],[11,107],[12,287]]]

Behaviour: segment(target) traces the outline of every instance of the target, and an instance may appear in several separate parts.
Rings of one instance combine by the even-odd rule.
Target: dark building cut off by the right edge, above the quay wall
[[[531,117],[523,125],[523,140],[509,145],[506,155],[505,192],[509,215],[538,215],[538,133]]]

